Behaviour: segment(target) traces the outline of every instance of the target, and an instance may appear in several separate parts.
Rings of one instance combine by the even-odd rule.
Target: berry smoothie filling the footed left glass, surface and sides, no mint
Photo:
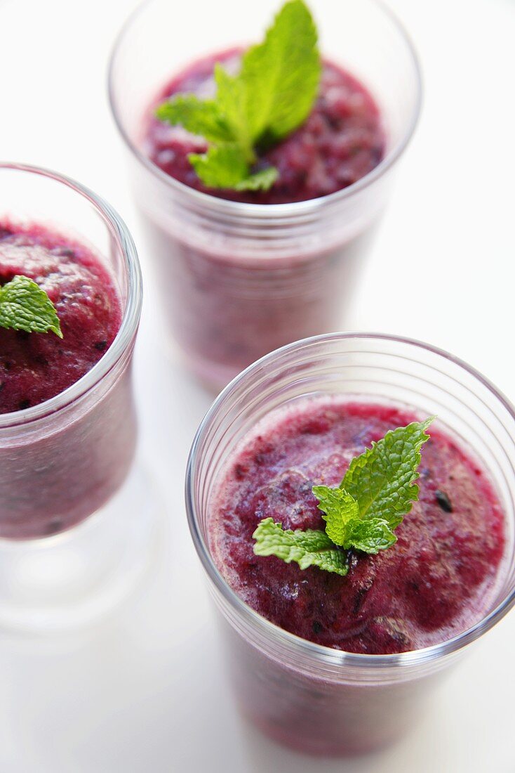
[[[56,306],[63,339],[0,329],[0,414],[43,404],[109,350],[122,308],[97,254],[37,224],[0,223],[0,282],[24,274]],[[128,363],[61,410],[2,427],[0,537],[49,536],[100,508],[127,475],[135,421]]]

